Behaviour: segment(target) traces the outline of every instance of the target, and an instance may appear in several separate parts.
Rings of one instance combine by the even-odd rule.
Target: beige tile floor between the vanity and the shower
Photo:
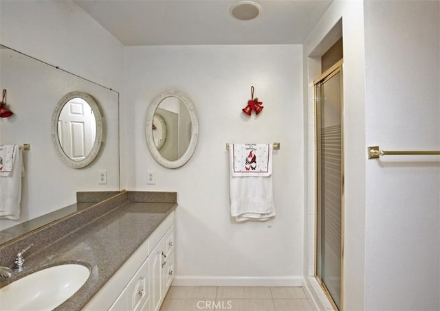
[[[171,286],[160,311],[313,311],[301,287]]]

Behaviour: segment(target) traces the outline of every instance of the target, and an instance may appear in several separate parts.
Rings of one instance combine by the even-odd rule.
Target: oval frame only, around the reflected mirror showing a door
[[[60,117],[61,111],[63,110],[65,104],[69,102],[69,100],[77,97],[85,100],[87,104],[90,105],[91,110],[94,112],[96,120],[96,137],[94,146],[91,148],[89,154],[87,154],[87,157],[85,157],[81,161],[74,161],[67,157],[67,154],[65,154],[63,147],[61,146],[60,140],[58,139],[58,119]],[[64,95],[63,98],[61,98],[61,100],[55,107],[54,114],[52,115],[52,142],[54,143],[56,154],[58,154],[61,160],[63,160],[63,162],[70,168],[84,168],[92,161],[94,161],[99,153],[102,144],[102,116],[98,104],[96,104],[94,99],[89,94],[80,91],[73,91],[67,93],[66,95]]]

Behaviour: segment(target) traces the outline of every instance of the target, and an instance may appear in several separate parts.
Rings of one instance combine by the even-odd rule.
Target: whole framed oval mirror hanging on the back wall
[[[162,124],[166,128],[166,136],[161,136],[163,143],[158,141],[153,129]],[[165,168],[184,165],[192,157],[199,138],[199,119],[188,96],[181,91],[157,95],[146,112],[145,134],[148,149],[157,163]]]

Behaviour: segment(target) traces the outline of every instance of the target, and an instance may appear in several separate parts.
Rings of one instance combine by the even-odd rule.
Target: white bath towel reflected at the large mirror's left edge
[[[21,177],[25,171],[21,148],[10,146],[14,146],[12,168],[9,172],[0,173],[0,218],[17,220],[21,212]]]

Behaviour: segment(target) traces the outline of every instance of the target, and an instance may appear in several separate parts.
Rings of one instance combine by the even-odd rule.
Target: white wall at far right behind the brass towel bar
[[[440,150],[439,21],[439,1],[366,1],[366,146]],[[366,164],[366,310],[440,310],[439,160]]]

